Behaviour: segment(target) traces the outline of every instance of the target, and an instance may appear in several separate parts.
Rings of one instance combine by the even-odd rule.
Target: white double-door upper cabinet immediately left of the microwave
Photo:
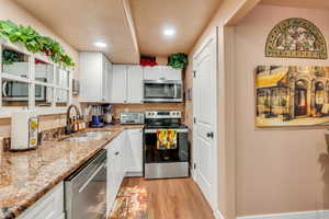
[[[112,103],[143,103],[143,67],[113,65]]]

